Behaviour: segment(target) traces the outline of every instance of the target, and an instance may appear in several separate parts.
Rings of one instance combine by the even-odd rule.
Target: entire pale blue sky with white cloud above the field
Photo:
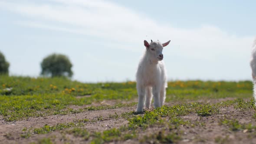
[[[73,79],[135,80],[143,40],[164,48],[169,80],[248,80],[253,0],[0,0],[0,51],[11,75],[38,76],[53,53]]]

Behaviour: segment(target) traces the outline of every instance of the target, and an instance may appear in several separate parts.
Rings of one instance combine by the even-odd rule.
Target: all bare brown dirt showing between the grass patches
[[[200,100],[200,101],[177,101],[177,102],[171,102],[167,103],[166,105],[175,105],[175,104],[181,104],[181,103],[191,103],[191,102],[202,102],[202,103],[208,103],[208,104],[214,104],[220,101],[227,101],[227,100],[233,100],[235,98],[220,98],[220,99],[209,99],[209,100]],[[79,107],[80,108],[80,107]],[[13,144],[19,142],[20,144],[27,144],[30,141],[38,141],[39,139],[43,137],[50,137],[51,135],[55,135],[56,143],[62,143],[63,135],[59,131],[54,131],[49,134],[36,134],[32,135],[29,139],[21,138],[20,135],[23,134],[23,128],[40,128],[43,127],[45,124],[48,125],[56,125],[58,123],[67,123],[71,121],[75,121],[78,119],[84,119],[87,118],[89,120],[97,119],[99,116],[103,117],[103,121],[98,121],[94,123],[87,123],[85,124],[85,128],[88,131],[104,131],[108,128],[118,128],[122,125],[125,125],[128,123],[127,120],[123,118],[119,118],[118,120],[115,119],[109,119],[109,115],[114,115],[115,113],[120,115],[124,112],[130,112],[134,111],[136,107],[125,107],[125,108],[116,108],[116,109],[108,109],[108,110],[100,110],[100,111],[84,111],[77,114],[69,114],[69,115],[52,115],[47,117],[39,117],[39,118],[29,118],[27,120],[22,121],[14,121],[14,122],[6,122],[3,119],[0,120],[0,142],[4,144]],[[220,137],[226,137],[228,135],[228,138],[231,142],[234,142],[236,144],[239,144],[240,142],[246,141],[244,139],[243,132],[238,132],[236,134],[241,134],[241,137],[239,140],[237,140],[236,137],[238,137],[236,134],[232,134],[230,131],[227,131],[226,127],[221,126],[220,119],[224,118],[225,116],[228,116],[230,118],[236,118],[241,123],[253,123],[256,124],[255,120],[252,118],[254,114],[254,111],[238,111],[232,107],[230,108],[222,108],[220,110],[220,114],[218,115],[212,115],[209,117],[199,117],[197,114],[191,114],[182,117],[184,120],[189,120],[191,122],[200,121],[202,123],[205,123],[205,127],[195,127],[195,128],[183,128],[183,130],[186,132],[184,134],[183,140],[180,142],[181,144],[196,144],[196,143],[205,143],[207,141],[207,144],[215,143],[215,139],[217,136]],[[154,131],[157,131],[158,128],[156,128]],[[76,138],[72,135],[65,135],[66,138],[72,141],[72,143],[83,143],[84,141],[79,138]],[[255,138],[250,139],[251,142],[255,140]],[[208,143],[209,142],[209,143]],[[134,140],[128,140],[125,141],[125,143],[138,143],[138,141]]]

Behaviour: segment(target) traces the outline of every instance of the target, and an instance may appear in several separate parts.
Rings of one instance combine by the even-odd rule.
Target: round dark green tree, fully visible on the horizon
[[[54,53],[44,58],[43,62],[41,62],[41,75],[71,77],[73,75],[71,67],[72,63],[67,56]]]

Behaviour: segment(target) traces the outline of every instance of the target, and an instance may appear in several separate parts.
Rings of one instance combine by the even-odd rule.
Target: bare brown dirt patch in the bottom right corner
[[[201,127],[183,127],[184,140],[181,141],[181,144],[215,144],[217,139],[225,141],[224,143],[230,144],[252,144],[255,142],[256,137],[247,138],[248,133],[243,133],[243,131],[231,131],[225,125],[220,124],[221,120],[236,119],[240,124],[256,124],[255,119],[253,119],[255,111],[239,111],[233,107],[221,108],[220,114],[211,115],[208,117],[200,117],[197,115],[186,115],[182,117],[184,120],[189,120],[192,123],[202,123]],[[226,138],[226,140],[225,140]]]

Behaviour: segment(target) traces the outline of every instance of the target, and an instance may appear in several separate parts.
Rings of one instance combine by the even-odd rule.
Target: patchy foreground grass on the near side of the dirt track
[[[240,107],[239,105],[252,105],[251,101],[243,101],[241,99],[235,99],[233,101],[227,101],[225,103],[220,102],[213,105],[191,103],[184,105],[163,106],[156,108],[152,111],[144,111],[143,115],[137,115],[134,111],[125,112],[120,115],[113,114],[107,118],[102,116],[95,117],[95,119],[81,119],[74,122],[56,124],[53,126],[45,125],[42,128],[27,129],[21,135],[23,138],[29,138],[31,134],[48,134],[53,131],[63,131],[64,134],[72,134],[75,137],[81,137],[85,141],[89,141],[92,144],[103,144],[108,142],[121,142],[128,139],[138,139],[138,133],[147,131],[148,128],[160,128],[160,131],[153,131],[153,134],[144,135],[143,138],[138,141],[144,143],[176,143],[181,139],[183,131],[182,127],[195,127],[203,126],[202,123],[191,123],[185,121],[181,116],[189,114],[197,114],[200,117],[207,117],[209,115],[218,114],[219,109],[227,106],[237,106],[236,108],[248,109],[250,106]],[[202,115],[207,114],[207,115]],[[128,124],[121,126],[120,128],[111,128],[102,132],[87,131],[86,127],[83,127],[85,123],[96,123],[98,121],[106,121],[110,119],[118,120],[125,118],[128,120]],[[256,126],[252,124],[240,124],[237,120],[223,119],[220,124],[227,126],[231,131],[255,131]],[[215,142],[223,143],[226,139],[216,137]]]

